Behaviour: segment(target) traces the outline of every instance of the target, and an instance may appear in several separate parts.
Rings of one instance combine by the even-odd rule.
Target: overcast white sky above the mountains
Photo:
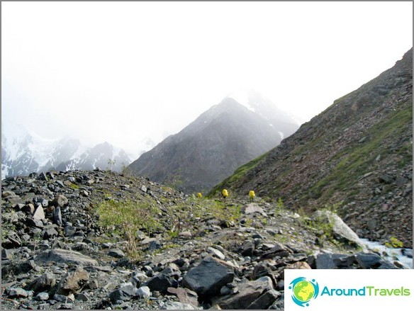
[[[310,120],[412,45],[412,2],[1,2],[1,122],[131,151],[247,89]]]

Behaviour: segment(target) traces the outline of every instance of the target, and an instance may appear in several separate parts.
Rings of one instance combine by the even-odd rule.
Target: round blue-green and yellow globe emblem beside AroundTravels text
[[[314,279],[308,281],[301,276],[291,281],[289,290],[292,290],[292,300],[296,305],[308,307],[308,302],[318,297],[319,285]]]

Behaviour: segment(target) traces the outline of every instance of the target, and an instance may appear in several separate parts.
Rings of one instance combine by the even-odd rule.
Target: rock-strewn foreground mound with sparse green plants
[[[1,213],[2,309],[281,309],[285,268],[403,268],[328,211],[198,199],[110,171],[6,179]]]

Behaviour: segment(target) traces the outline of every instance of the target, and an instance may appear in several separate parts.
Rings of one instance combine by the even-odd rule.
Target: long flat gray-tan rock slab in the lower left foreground
[[[58,262],[65,264],[76,264],[79,266],[98,266],[98,261],[91,259],[89,256],[85,256],[77,251],[69,251],[66,249],[52,249],[49,251],[43,251],[35,256],[36,263]]]

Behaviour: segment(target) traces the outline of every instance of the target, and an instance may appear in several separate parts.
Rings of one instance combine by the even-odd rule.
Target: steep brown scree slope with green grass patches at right
[[[413,50],[219,183],[287,207],[330,205],[362,237],[413,244]]]

